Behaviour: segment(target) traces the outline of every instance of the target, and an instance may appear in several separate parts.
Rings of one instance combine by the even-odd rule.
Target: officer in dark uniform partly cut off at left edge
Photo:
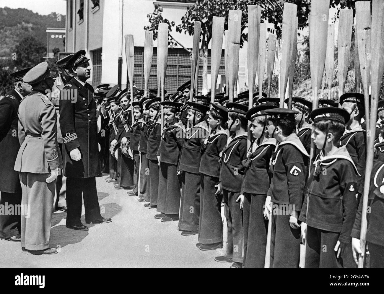
[[[17,125],[20,102],[29,93],[22,90],[24,75],[31,68],[11,73],[14,78],[15,88],[9,91],[0,100],[0,204],[6,206],[17,205],[22,201],[22,188],[19,175],[13,170],[20,143],[17,138]],[[20,242],[20,215],[0,214],[0,239]]]

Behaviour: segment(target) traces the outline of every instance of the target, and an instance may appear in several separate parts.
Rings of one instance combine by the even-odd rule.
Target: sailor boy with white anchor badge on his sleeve
[[[313,138],[320,154],[314,160],[299,220],[305,238],[305,267],[343,267],[351,248],[356,214],[357,168],[346,149],[339,147],[346,110],[322,107],[311,112]],[[325,249],[325,250],[324,250]]]

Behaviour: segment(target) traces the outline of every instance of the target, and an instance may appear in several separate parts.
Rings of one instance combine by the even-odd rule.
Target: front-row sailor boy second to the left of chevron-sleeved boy
[[[215,257],[218,262],[232,262],[231,267],[242,267],[243,262],[243,217],[242,210],[236,202],[240,196],[244,177],[242,161],[247,153],[247,113],[248,106],[227,103],[228,131],[234,134],[228,138],[227,146],[221,154],[220,183],[217,194],[223,194],[225,216],[227,218],[228,236],[225,256]]]

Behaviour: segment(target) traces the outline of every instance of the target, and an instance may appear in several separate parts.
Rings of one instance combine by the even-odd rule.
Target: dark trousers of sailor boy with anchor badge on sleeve
[[[343,259],[336,258],[337,252],[334,251],[339,236],[340,233],[307,226],[305,267],[343,267]]]

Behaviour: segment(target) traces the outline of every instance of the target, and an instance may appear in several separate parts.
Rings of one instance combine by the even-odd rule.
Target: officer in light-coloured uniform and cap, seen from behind
[[[18,109],[20,149],[15,162],[22,186],[21,245],[33,255],[57,253],[49,247],[55,180],[62,166],[58,152],[56,111],[50,91],[54,72],[42,62],[24,76],[32,86]]]

